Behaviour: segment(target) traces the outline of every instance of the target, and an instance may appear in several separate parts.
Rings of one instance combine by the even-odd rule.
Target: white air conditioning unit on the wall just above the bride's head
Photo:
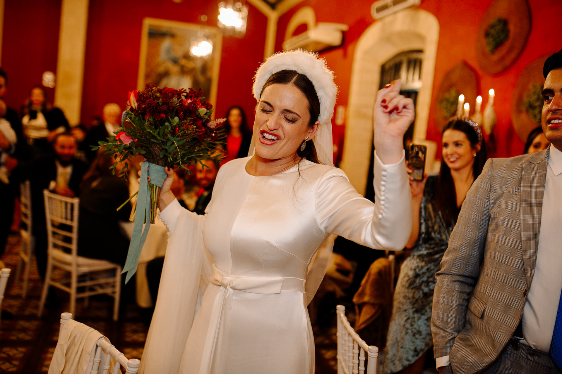
[[[342,44],[343,31],[348,29],[349,26],[344,24],[318,22],[312,29],[285,40],[283,50],[302,48],[318,52],[329,47],[337,47]]]

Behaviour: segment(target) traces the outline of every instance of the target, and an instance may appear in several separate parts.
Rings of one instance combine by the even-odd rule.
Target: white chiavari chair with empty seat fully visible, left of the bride
[[[119,315],[121,266],[106,260],[78,256],[78,212],[80,199],[56,195],[43,190],[47,218],[47,273],[39,303],[38,316],[43,313],[49,286],[70,294],[70,312],[75,313],[76,299],[107,294],[115,299],[113,320]],[[103,238],[100,238],[100,245]],[[65,252],[65,249],[70,253]],[[54,268],[70,273],[70,278],[53,278]],[[84,292],[78,288],[84,287]]]

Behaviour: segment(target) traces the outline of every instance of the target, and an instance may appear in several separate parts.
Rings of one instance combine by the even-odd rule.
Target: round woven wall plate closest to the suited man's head
[[[529,91],[529,85],[545,84],[545,78],[542,76],[542,66],[549,56],[541,57],[525,66],[523,71],[519,74],[519,78],[513,89],[513,98],[511,99],[511,121],[513,122],[515,132],[523,141],[527,140],[527,136],[533,128],[541,126],[541,124],[534,122],[527,112],[519,109],[519,107],[525,93]]]

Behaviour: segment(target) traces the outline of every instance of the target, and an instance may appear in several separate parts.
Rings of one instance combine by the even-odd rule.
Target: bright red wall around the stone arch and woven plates
[[[339,86],[337,104],[347,105],[353,53],[357,40],[368,26],[376,22],[370,15],[371,3],[373,1],[347,0],[345,10],[343,10],[342,3],[336,0],[306,0],[280,17],[275,50],[282,50],[287,24],[294,13],[303,6],[314,8],[316,22],[338,22],[350,26],[350,29],[344,34],[341,47],[321,54],[322,57],[327,59],[332,70],[336,72],[336,84]],[[551,0],[529,1],[532,13],[532,29],[527,46],[513,66],[496,76],[489,76],[479,68],[475,52],[478,26],[491,3],[492,0],[470,2],[464,0],[422,1],[419,8],[432,13],[439,22],[439,43],[432,100],[433,102],[436,101],[437,90],[447,71],[460,61],[466,61],[478,72],[481,93],[484,98],[482,108],[487,103],[488,90],[493,88],[496,91],[494,107],[498,121],[494,131],[497,140],[497,151],[494,156],[514,156],[522,153],[524,143],[519,140],[511,124],[513,89],[519,73],[528,63],[562,48],[560,33],[555,31],[560,24],[559,15],[562,14],[562,2]],[[334,133],[339,131],[334,127]],[[441,144],[441,134],[438,132],[434,121],[433,106],[429,113],[427,138]]]

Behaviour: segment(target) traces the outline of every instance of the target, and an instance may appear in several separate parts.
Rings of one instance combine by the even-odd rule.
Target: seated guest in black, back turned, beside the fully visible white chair
[[[81,183],[78,254],[123,266],[129,238],[121,232],[119,221],[129,219],[131,205],[116,209],[129,198],[129,184],[118,177],[124,163],[117,163],[112,174],[115,160],[104,151],[98,150]]]

